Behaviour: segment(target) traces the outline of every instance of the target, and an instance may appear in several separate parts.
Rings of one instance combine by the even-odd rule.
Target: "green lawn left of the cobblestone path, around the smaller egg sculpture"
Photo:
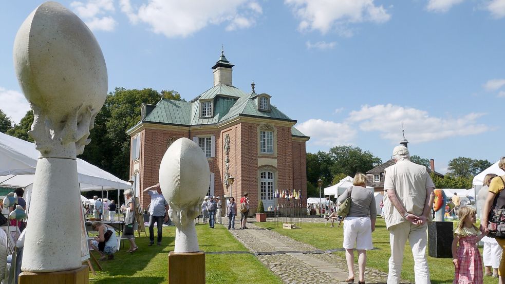
[[[244,245],[219,224],[215,229],[198,224],[196,231],[200,250],[204,252],[247,251]],[[161,247],[148,247],[149,238],[142,233],[135,240],[139,250],[131,254],[126,253],[129,244],[125,241],[125,248],[116,253],[115,260],[101,262],[103,272],[97,271],[97,275],[89,273],[89,278],[92,279],[90,283],[166,283],[168,255],[174,250],[174,233],[174,226],[163,228]],[[98,258],[97,254],[96,256]],[[282,283],[251,254],[206,254],[205,280],[207,283]]]

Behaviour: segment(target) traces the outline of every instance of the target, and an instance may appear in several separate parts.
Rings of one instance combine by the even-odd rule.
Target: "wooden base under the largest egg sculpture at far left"
[[[22,272],[19,284],[88,284],[88,267],[46,273]]]

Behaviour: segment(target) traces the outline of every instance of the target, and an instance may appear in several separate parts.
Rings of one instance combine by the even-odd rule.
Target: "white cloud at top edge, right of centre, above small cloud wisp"
[[[319,30],[325,34],[330,30],[348,33],[347,24],[373,22],[384,23],[391,17],[383,6],[373,0],[285,0],[300,18],[300,31]]]

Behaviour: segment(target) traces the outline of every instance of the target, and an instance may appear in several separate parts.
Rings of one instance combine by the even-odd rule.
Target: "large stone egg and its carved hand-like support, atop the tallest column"
[[[17,31],[13,53],[34,112],[29,134],[42,157],[82,154],[107,94],[107,68],[95,36],[76,14],[46,2]]]

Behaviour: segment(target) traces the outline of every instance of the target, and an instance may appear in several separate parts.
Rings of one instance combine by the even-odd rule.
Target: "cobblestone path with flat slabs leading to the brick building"
[[[230,232],[284,283],[343,283],[347,279],[347,263],[340,256],[317,250],[253,223],[247,223],[247,226],[248,230]],[[235,228],[239,227],[237,223]],[[354,273],[357,283],[357,264]],[[366,268],[366,283],[386,283],[386,280],[386,273]]]

